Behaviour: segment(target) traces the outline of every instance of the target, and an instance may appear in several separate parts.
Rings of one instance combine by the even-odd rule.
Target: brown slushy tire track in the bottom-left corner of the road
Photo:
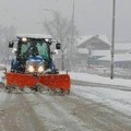
[[[0,117],[1,131],[46,131],[23,94],[7,94]]]

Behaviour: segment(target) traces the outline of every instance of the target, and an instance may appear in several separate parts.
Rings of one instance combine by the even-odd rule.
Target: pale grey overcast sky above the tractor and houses
[[[72,15],[73,0],[0,0],[0,25],[14,25],[17,33],[44,33],[40,24],[52,17],[51,9]],[[111,36],[112,0],[74,0],[75,25],[82,35]],[[116,0],[116,40],[131,41],[131,0]]]

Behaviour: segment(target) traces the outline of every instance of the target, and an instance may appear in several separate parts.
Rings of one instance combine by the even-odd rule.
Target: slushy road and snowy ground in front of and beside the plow
[[[75,72],[69,74],[72,85],[68,96],[53,96],[47,91],[13,95],[0,92],[0,129],[131,131],[130,80]],[[5,128],[7,118],[12,118],[17,127],[8,121],[9,128]]]

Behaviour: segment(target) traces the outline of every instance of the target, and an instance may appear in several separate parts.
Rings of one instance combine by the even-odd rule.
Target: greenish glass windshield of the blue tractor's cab
[[[33,39],[22,43],[21,55],[28,57],[29,55],[36,55],[43,57],[43,59],[49,59],[48,45],[41,39]]]

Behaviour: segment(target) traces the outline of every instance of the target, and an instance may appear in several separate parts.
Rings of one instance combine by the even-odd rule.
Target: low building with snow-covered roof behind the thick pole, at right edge
[[[131,69],[131,43],[115,43],[115,68]],[[98,61],[106,67],[110,66],[111,56],[99,58]]]

